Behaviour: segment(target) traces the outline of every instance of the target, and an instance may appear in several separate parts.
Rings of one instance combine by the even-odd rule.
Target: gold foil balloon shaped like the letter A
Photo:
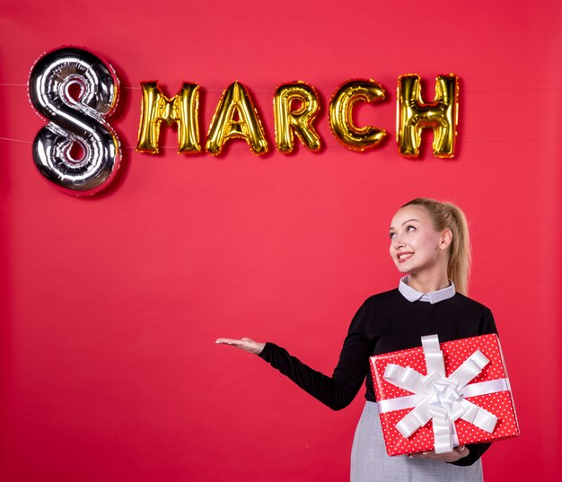
[[[258,110],[246,88],[238,82],[224,90],[223,97],[216,106],[206,138],[206,150],[218,155],[224,144],[231,139],[244,139],[251,152],[257,155],[268,152],[268,141]]]

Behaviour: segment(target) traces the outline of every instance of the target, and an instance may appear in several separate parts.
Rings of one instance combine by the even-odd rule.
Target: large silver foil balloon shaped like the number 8
[[[48,119],[33,142],[33,160],[63,192],[92,195],[115,177],[119,139],[105,118],[115,109],[118,94],[113,69],[81,48],[49,52],[31,68],[30,100]]]

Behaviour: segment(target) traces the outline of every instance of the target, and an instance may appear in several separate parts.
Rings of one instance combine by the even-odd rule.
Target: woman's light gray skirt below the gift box
[[[482,460],[468,467],[429,459],[390,457],[384,448],[379,409],[367,401],[351,450],[351,482],[482,482]]]

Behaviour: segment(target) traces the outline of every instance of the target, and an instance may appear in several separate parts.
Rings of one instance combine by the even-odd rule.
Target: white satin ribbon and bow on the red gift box
[[[476,350],[447,378],[445,376],[443,352],[439,347],[439,337],[437,335],[422,337],[422,346],[424,347],[427,367],[427,374],[425,376],[410,367],[403,367],[397,364],[386,365],[386,370],[382,376],[384,380],[389,381],[400,389],[415,393],[415,395],[400,397],[400,399],[382,400],[382,402],[402,400],[401,403],[393,404],[392,409],[394,410],[414,408],[396,425],[400,434],[408,438],[418,428],[432,420],[435,453],[444,453],[452,451],[453,443],[456,439],[454,422],[459,418],[489,433],[494,432],[497,417],[464,398],[466,396],[474,396],[475,394],[492,393],[498,391],[496,390],[498,388],[501,389],[504,386],[508,386],[508,383],[503,379],[495,381],[495,383],[479,383],[479,385],[487,383],[486,387],[480,387],[479,390],[470,390],[471,386],[465,388],[489,363],[486,355],[480,350]],[[398,408],[396,408],[397,405]],[[385,408],[388,408],[388,406],[389,404]],[[388,409],[382,411],[388,411]]]

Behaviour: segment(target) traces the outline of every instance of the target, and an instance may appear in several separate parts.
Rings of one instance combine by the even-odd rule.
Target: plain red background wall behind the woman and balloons
[[[363,390],[331,412],[251,355],[250,336],[331,372],[357,307],[399,275],[387,254],[411,197],[466,211],[471,296],[496,316],[522,435],[484,456],[488,482],[554,480],[560,450],[560,7],[555,1],[2,2],[0,478],[9,481],[339,481]],[[105,57],[122,83],[111,125],[118,180],[93,198],[40,177],[27,100],[36,58],[63,45]],[[398,76],[461,78],[453,160],[397,153]],[[389,100],[359,121],[389,131],[338,145],[326,106],[373,78]],[[206,133],[223,89],[246,85],[273,145],[273,92],[322,95],[325,149],[262,158],[136,153],[140,83],[202,85]]]

